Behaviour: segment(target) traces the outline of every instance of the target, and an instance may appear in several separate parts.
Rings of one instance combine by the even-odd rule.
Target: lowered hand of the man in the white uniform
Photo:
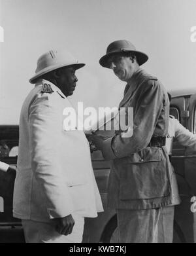
[[[59,232],[59,234],[64,234],[65,236],[71,234],[75,224],[71,214],[63,218],[55,218],[53,221],[56,222],[56,231]]]

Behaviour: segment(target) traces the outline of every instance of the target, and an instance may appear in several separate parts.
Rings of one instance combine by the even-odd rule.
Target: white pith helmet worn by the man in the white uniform
[[[37,69],[35,70],[35,75],[29,80],[31,84],[52,70],[58,69],[59,67],[74,67],[74,69],[80,69],[84,67],[85,64],[79,64],[78,60],[72,56],[71,53],[59,50],[50,50],[37,60]]]

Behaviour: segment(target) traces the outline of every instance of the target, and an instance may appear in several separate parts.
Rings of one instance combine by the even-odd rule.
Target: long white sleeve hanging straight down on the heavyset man
[[[29,141],[31,166],[44,192],[50,218],[72,213],[73,202],[66,185],[58,150],[61,113],[50,104],[48,95],[37,97],[29,107]]]

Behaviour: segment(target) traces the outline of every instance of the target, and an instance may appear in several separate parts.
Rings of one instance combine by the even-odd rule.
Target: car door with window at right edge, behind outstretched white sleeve
[[[194,131],[194,109],[196,95],[179,96],[171,101],[171,115],[174,115],[183,126],[191,132]],[[195,129],[196,130],[196,129]],[[176,173],[181,204],[175,207],[174,214],[174,242],[195,241],[195,213],[191,211],[196,192],[196,158],[194,152],[180,145],[178,141],[173,143],[172,165]]]

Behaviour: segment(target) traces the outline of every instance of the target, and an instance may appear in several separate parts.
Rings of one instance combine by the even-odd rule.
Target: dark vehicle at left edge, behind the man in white
[[[0,146],[0,161],[16,166],[18,155],[18,125],[0,126],[0,145],[8,148],[3,151]],[[20,219],[12,215],[14,176],[0,171],[0,242],[25,242]]]

